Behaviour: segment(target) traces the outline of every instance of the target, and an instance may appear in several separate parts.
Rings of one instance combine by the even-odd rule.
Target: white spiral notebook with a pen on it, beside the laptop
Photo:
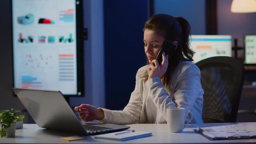
[[[144,132],[144,131],[121,131],[121,132],[115,132],[110,134],[101,134],[94,136],[94,138],[100,138],[105,140],[114,140],[114,141],[128,141],[136,138],[141,137],[149,137],[152,136],[151,132]]]

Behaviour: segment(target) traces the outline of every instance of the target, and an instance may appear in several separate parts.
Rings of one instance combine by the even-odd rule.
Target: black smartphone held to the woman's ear
[[[158,64],[161,65],[163,61],[163,56],[162,56],[163,52],[165,53],[165,56],[168,55],[170,57],[176,50],[176,47],[177,46],[174,43],[171,43],[170,41],[165,39],[160,51],[158,52],[158,56],[156,58],[156,60],[158,61]]]

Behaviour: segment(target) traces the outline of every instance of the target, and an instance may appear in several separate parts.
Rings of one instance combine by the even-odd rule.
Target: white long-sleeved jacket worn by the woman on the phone
[[[203,89],[200,69],[190,61],[181,61],[171,78],[171,88],[164,88],[159,77],[143,81],[138,75],[147,66],[141,67],[136,75],[135,90],[128,105],[122,111],[102,108],[105,118],[101,122],[109,124],[167,123],[166,109],[185,108],[192,111],[192,123],[201,124],[203,110]],[[189,118],[185,119],[187,122]]]

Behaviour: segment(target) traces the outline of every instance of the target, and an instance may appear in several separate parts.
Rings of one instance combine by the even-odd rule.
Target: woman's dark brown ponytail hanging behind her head
[[[182,45],[182,52],[184,54],[184,59],[189,61],[193,61],[194,51],[190,49],[190,24],[187,20],[183,17],[177,17],[176,20],[179,22],[181,26],[181,45]]]

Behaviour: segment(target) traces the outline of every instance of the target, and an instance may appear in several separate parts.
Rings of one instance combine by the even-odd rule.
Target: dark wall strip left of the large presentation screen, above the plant
[[[12,31],[11,31],[11,3],[10,0],[0,0],[0,10],[3,13],[0,23],[0,65],[1,65],[1,81],[0,81],[0,109],[15,108],[24,110],[17,97],[13,97],[13,70],[12,70]],[[30,116],[25,115],[24,121],[28,121]]]

